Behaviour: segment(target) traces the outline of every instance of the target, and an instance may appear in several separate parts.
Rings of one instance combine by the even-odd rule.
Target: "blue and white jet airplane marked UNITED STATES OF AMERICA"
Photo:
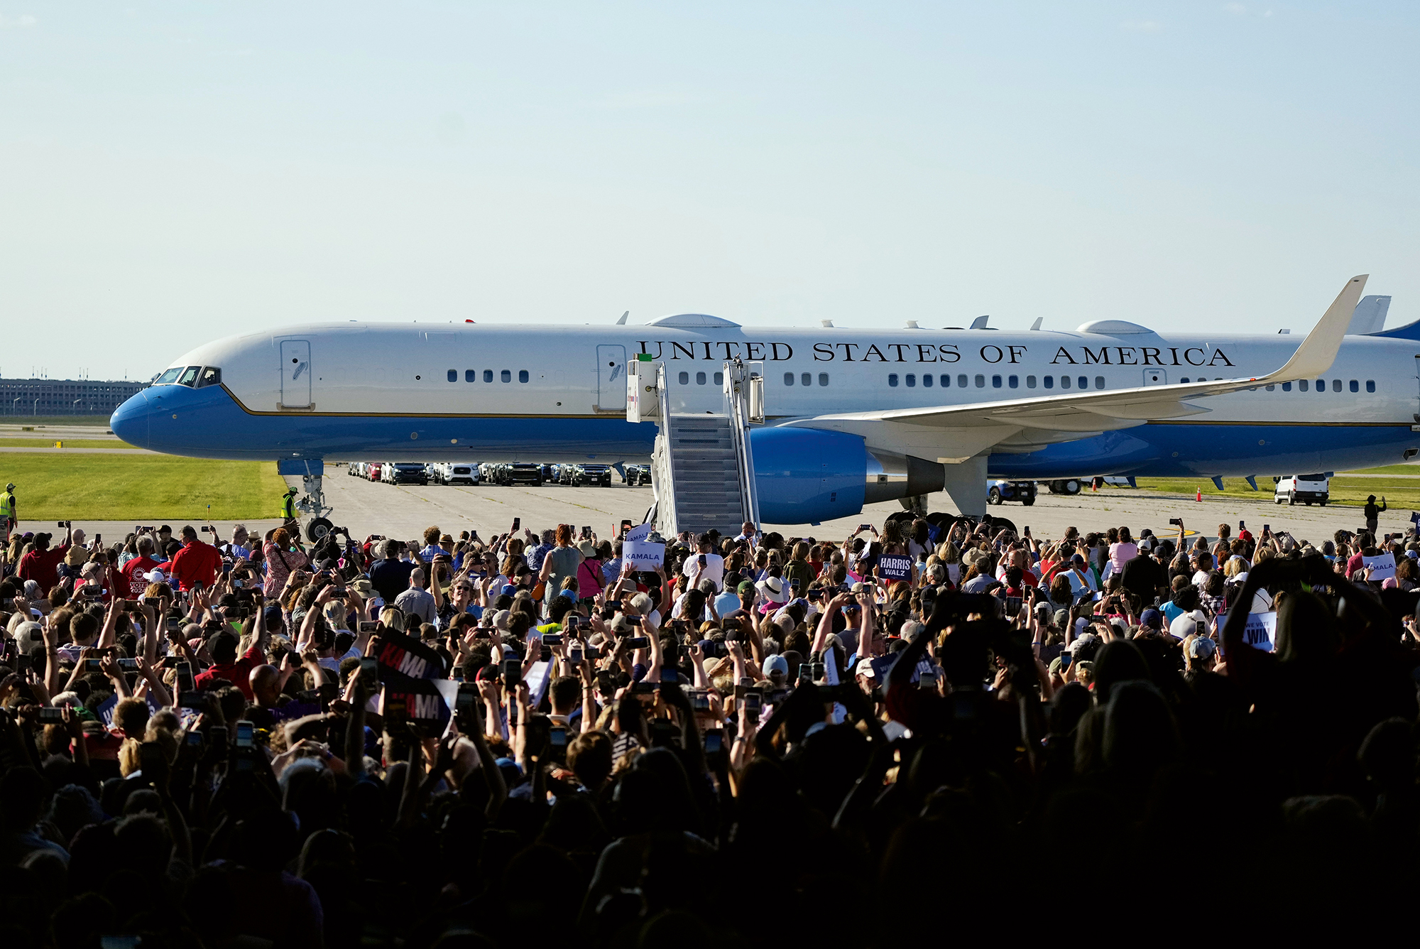
[[[1420,321],[1380,330],[1389,297],[1346,281],[1298,345],[1272,334],[987,327],[325,322],[197,347],[114,412],[125,442],[170,455],[325,462],[643,463],[628,359],[666,369],[673,413],[719,412],[723,374],[763,365],[750,432],[761,520],[811,524],[946,490],[985,513],[985,480],[1332,472],[1420,452]],[[1379,314],[1379,317],[1377,317]],[[1358,332],[1362,331],[1362,332]],[[325,521],[328,526],[328,521]]]

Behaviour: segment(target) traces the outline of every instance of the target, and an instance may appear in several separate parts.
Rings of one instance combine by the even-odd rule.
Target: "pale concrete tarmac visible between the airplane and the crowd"
[[[542,487],[479,486],[419,486],[382,484],[345,474],[344,467],[332,466],[325,477],[325,499],[334,509],[332,523],[348,527],[356,540],[369,534],[413,540],[423,530],[437,526],[442,531],[459,536],[463,530],[477,530],[480,537],[507,531],[513,519],[521,519],[521,526],[534,531],[555,527],[559,523],[572,524],[578,530],[589,526],[598,537],[615,534],[622,519],[640,523],[653,503],[650,487],[628,487],[616,483],[612,487],[564,487],[544,484]],[[287,479],[300,489],[300,479]],[[36,524],[26,521],[24,497],[20,496],[20,530],[47,530],[54,533],[53,523]],[[271,499],[271,509],[278,510],[280,499]],[[842,541],[856,531],[859,524],[872,523],[882,527],[886,517],[902,510],[897,501],[869,504],[862,513],[826,521],[816,526],[764,524],[764,530],[777,530],[785,536],[805,536],[818,540]],[[956,513],[946,494],[927,499],[929,511]],[[1177,534],[1177,527],[1169,519],[1181,519],[1189,536],[1201,531],[1214,537],[1220,523],[1228,523],[1237,533],[1245,523],[1254,534],[1268,524],[1274,531],[1285,530],[1301,540],[1321,544],[1329,540],[1338,528],[1358,530],[1363,527],[1360,510],[1355,507],[1288,507],[1275,506],[1268,492],[1258,492],[1258,499],[1224,497],[1204,494],[1203,501],[1194,496],[1159,494],[1133,489],[1106,487],[1099,493],[1088,489],[1079,494],[1041,493],[1034,506],[1005,503],[988,507],[995,517],[1011,520],[1017,528],[1030,527],[1032,536],[1055,538],[1066,527],[1082,533],[1108,527],[1127,526],[1135,536],[1142,528],[1152,528],[1159,536]],[[180,528],[185,523],[200,524],[202,511],[182,520],[176,517],[148,519],[143,523],[168,523]],[[280,526],[280,519],[251,519],[243,521],[251,531],[267,531]],[[1403,533],[1410,526],[1410,510],[1392,509],[1380,517],[1382,533]],[[112,540],[133,530],[128,521],[77,521],[89,536],[95,531]],[[230,536],[231,521],[216,524],[219,534]]]

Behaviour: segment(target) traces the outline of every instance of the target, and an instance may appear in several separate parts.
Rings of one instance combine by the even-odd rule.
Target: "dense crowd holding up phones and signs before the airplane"
[[[1420,882],[1413,528],[20,527],[7,946],[1306,933]]]

